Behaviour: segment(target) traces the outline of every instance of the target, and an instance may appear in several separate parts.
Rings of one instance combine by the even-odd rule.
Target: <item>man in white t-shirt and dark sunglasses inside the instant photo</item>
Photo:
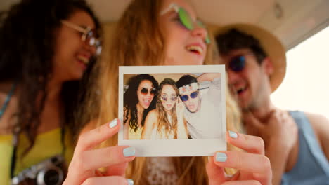
[[[210,81],[207,93],[201,97],[198,83]],[[198,78],[184,75],[176,82],[179,96],[186,106],[184,117],[192,139],[219,138],[221,132],[220,74],[201,74]]]

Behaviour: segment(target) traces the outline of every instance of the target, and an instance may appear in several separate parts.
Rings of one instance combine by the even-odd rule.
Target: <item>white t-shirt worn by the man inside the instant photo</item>
[[[200,97],[199,103],[200,109],[195,113],[191,113],[187,108],[184,112],[189,135],[193,139],[220,138],[222,116],[220,78],[210,83],[207,93]]]

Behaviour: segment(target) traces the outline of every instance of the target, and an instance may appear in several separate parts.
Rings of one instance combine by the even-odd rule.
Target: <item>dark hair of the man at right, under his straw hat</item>
[[[232,50],[247,48],[254,53],[258,64],[267,57],[265,50],[254,36],[240,32],[238,29],[230,29],[224,34],[217,34],[215,39],[221,55],[228,55]]]

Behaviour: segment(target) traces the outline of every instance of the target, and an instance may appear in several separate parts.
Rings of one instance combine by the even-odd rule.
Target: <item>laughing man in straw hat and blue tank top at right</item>
[[[280,41],[247,24],[222,27],[216,41],[246,132],[264,139],[273,185],[329,184],[328,119],[278,109],[271,102],[271,93],[285,76],[285,48]]]

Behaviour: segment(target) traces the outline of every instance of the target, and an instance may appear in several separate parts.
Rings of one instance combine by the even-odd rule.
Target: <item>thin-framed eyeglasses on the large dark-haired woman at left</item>
[[[94,32],[90,27],[80,27],[66,20],[61,20],[60,22],[62,22],[63,25],[75,29],[77,32],[80,32],[82,34],[81,40],[89,46],[94,46],[96,48],[96,55],[101,55],[101,41],[96,37],[96,32]]]

